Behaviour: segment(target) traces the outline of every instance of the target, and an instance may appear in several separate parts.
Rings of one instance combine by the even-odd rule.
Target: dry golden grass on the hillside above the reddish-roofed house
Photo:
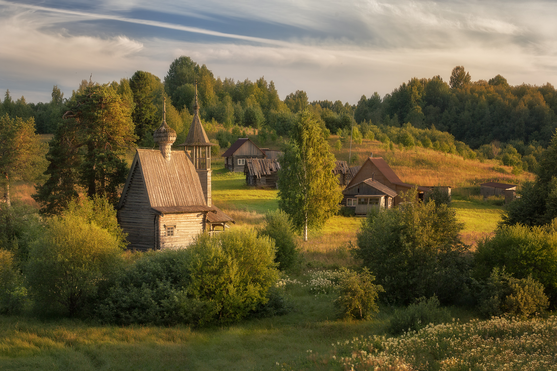
[[[343,149],[336,151],[332,147],[337,139],[336,135],[331,135],[329,138],[333,154],[337,160],[348,160],[350,144],[347,143]],[[358,156],[355,165],[363,164],[372,152],[374,157],[383,157],[400,179],[409,184],[464,187],[490,180],[517,184],[521,180],[533,179],[533,175],[529,172],[520,175],[511,174],[512,167],[499,165],[497,160],[486,160],[482,163],[422,147],[400,151],[395,146],[394,151],[390,151],[385,150],[381,142],[368,139],[364,139],[361,145],[352,143],[352,154]],[[494,167],[506,171],[507,174],[494,170]]]

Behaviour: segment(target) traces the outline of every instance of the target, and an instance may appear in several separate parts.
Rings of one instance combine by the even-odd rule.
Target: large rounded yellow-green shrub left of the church
[[[51,219],[30,248],[27,281],[39,311],[74,315],[121,263],[116,238],[81,217]]]

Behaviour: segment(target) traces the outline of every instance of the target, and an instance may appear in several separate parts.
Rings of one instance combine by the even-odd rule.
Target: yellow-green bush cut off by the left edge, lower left
[[[14,314],[22,309],[27,295],[22,281],[14,254],[0,249],[0,314]]]

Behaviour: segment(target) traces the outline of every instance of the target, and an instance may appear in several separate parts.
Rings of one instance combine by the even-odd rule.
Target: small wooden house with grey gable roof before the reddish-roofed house
[[[343,205],[354,209],[356,215],[366,215],[371,209],[390,209],[397,192],[384,184],[366,179],[343,190]]]

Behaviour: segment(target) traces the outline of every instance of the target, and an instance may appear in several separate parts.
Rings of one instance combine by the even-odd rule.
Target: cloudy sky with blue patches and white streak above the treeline
[[[273,80],[281,98],[356,103],[456,65],[472,80],[557,85],[557,2],[0,0],[0,90],[28,102],[84,78],[161,79],[190,56],[215,76]]]

